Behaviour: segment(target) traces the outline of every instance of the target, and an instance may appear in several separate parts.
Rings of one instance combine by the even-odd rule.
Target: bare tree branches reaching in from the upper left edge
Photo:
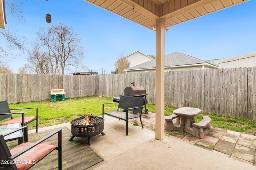
[[[22,6],[24,3],[22,0],[5,0],[5,8],[6,11],[9,10],[10,13],[14,18],[18,21],[25,22],[25,18],[23,16]],[[14,49],[19,49],[20,51],[24,51],[24,37],[19,37],[16,35],[15,31],[11,29],[0,29],[0,36],[1,42],[4,40],[5,47],[0,45],[0,61],[3,63],[8,63],[15,59],[17,56],[12,53]]]

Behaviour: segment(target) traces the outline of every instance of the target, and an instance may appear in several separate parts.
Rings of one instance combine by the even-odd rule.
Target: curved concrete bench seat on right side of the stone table
[[[202,121],[198,123],[192,123],[193,130],[196,132],[195,136],[197,138],[204,138],[204,131],[203,128],[210,129],[211,128],[211,118],[208,116],[202,116]]]

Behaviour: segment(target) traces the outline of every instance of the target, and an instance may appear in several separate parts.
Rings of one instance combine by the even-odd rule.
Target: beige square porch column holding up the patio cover
[[[164,20],[156,20],[156,139],[164,139]]]

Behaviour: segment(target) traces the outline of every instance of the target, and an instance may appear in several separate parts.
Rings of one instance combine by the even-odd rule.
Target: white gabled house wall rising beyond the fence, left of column
[[[138,64],[142,64],[142,63],[145,63],[147,61],[153,60],[151,57],[141,53],[140,51],[136,51],[136,52],[124,57],[124,58],[129,61],[130,67],[133,67],[133,66],[136,66]]]

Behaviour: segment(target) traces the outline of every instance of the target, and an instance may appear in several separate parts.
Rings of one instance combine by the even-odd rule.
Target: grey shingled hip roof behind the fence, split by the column
[[[190,55],[186,55],[179,52],[170,53],[168,55],[165,55],[164,60],[164,67],[170,67],[170,66],[184,66],[184,65],[192,65],[192,64],[210,64],[212,66],[216,66],[214,64],[208,63],[206,61],[197,59],[195,57],[192,57]],[[127,68],[125,70],[140,70],[140,69],[148,69],[148,68],[156,68],[156,59],[152,61],[148,61],[146,63],[142,63],[130,68]]]

